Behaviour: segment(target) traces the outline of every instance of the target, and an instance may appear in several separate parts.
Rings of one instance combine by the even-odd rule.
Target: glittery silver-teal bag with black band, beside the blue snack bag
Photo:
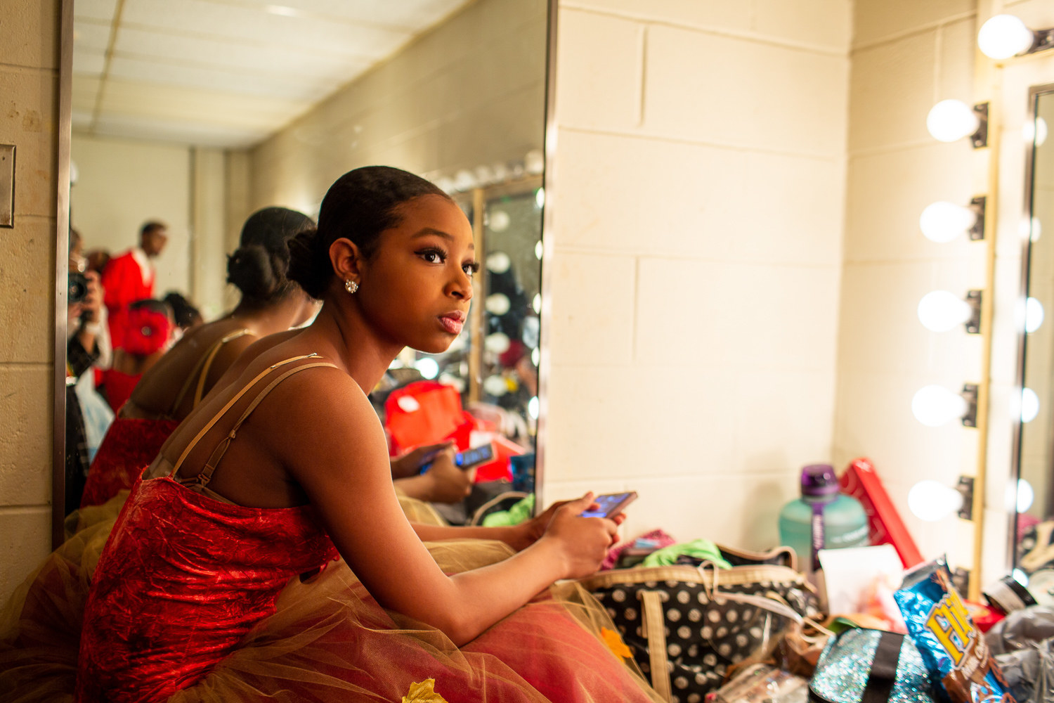
[[[808,684],[813,703],[935,703],[930,675],[911,638],[848,629],[827,641]]]

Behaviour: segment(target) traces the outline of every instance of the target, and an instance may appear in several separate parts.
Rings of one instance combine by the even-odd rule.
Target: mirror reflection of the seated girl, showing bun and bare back
[[[131,488],[176,426],[255,339],[302,325],[315,313],[317,304],[286,275],[286,242],[314,224],[286,208],[265,208],[246,220],[238,249],[227,261],[227,280],[241,299],[219,319],[188,330],[137,380],[99,446],[81,507]]]

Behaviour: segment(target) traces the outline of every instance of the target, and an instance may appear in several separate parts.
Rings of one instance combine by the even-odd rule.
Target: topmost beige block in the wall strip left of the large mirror
[[[0,64],[57,69],[60,0],[7,0],[0,15]]]

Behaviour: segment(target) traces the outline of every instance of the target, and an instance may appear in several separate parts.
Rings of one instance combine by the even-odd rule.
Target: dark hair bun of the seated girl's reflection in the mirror
[[[296,284],[289,271],[287,242],[315,221],[287,208],[265,208],[249,216],[241,228],[240,246],[227,257],[227,281],[234,284],[243,300],[266,304],[286,297]]]

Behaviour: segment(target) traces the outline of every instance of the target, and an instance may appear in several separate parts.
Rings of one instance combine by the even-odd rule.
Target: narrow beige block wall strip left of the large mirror
[[[15,227],[0,229],[0,602],[51,550],[59,0],[5,0],[0,143]]]

